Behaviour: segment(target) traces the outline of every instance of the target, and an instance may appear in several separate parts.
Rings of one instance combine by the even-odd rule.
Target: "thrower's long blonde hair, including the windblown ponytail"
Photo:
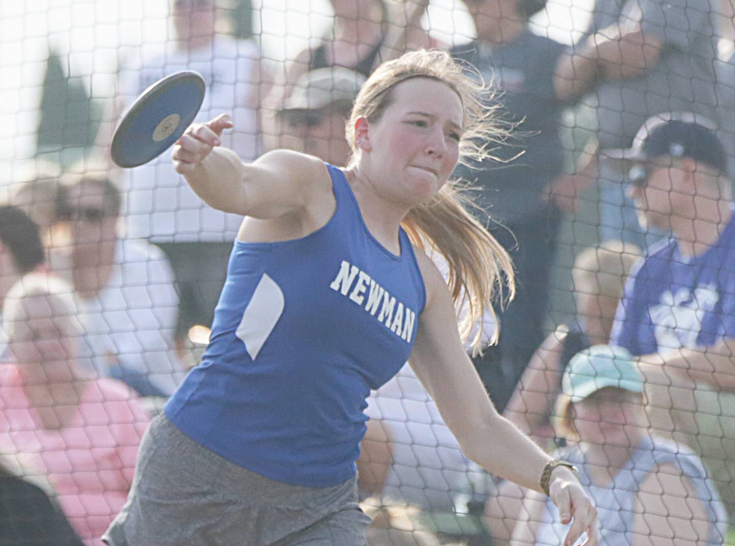
[[[347,123],[347,140],[353,150],[350,166],[356,163],[359,150],[355,143],[355,124],[359,118],[372,123],[380,120],[393,101],[396,85],[413,78],[429,78],[451,88],[462,101],[462,139],[459,162],[489,159],[490,152],[508,136],[508,126],[495,112],[497,105],[488,105],[491,98],[481,76],[469,67],[453,60],[445,51],[420,50],[406,53],[398,59],[384,62],[362,86]],[[515,294],[513,266],[505,249],[495,237],[469,212],[470,198],[462,193],[462,181],[448,181],[431,200],[412,209],[403,222],[412,243],[427,251],[436,249],[449,266],[449,289],[456,303],[466,291],[469,312],[460,333],[470,336],[472,327],[490,310],[498,323],[493,301],[503,305],[505,292]],[[506,289],[506,290],[504,290]],[[492,342],[497,342],[495,328]],[[481,351],[482,328],[472,342],[475,353]]]

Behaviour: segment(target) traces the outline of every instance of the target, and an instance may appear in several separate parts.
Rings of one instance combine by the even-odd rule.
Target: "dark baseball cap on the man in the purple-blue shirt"
[[[610,148],[600,152],[611,159],[644,162],[654,157],[690,157],[720,172],[727,171],[725,148],[717,137],[717,126],[691,112],[667,112],[643,123],[631,148]]]

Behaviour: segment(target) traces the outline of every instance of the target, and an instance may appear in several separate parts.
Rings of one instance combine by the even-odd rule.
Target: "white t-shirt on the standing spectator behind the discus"
[[[204,77],[207,90],[195,121],[220,114],[232,116],[233,129],[222,137],[222,146],[250,162],[260,151],[257,121],[257,63],[260,51],[251,40],[215,37],[211,45],[196,51],[162,46],[159,54],[130,60],[119,76],[119,93],[129,106],[150,85],[172,73],[191,70]],[[126,234],[156,243],[230,242],[242,217],[212,209],[193,192],[174,170],[171,152],[123,175],[126,198],[123,215]]]

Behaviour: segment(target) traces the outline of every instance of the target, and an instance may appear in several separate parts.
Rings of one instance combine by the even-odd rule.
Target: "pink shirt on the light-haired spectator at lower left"
[[[47,475],[74,530],[87,546],[122,508],[150,417],[120,381],[89,379],[68,425],[43,427],[15,364],[0,366],[0,453],[27,474]]]

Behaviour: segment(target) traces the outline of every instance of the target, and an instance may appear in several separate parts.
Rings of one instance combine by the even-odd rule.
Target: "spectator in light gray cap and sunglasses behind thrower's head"
[[[301,76],[278,112],[283,146],[345,167],[351,155],[345,123],[363,82],[361,73],[338,66]]]

